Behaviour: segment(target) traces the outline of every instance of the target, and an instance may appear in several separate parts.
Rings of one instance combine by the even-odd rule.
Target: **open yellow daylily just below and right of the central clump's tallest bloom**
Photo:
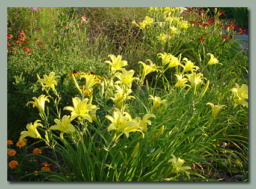
[[[119,73],[119,72],[115,73],[115,76],[120,80],[114,82],[114,84],[122,83],[123,85],[131,88],[131,82],[133,82],[133,80],[135,80],[135,79],[140,80],[139,78],[136,78],[136,77],[133,78],[133,75],[135,72],[134,70],[129,70],[127,72],[124,68],[122,68],[122,72],[123,73]]]

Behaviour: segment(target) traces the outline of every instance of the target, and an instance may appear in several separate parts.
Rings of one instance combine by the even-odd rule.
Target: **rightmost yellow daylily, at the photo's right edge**
[[[248,86],[242,84],[242,86],[240,87],[237,83],[235,83],[235,85],[236,88],[231,88],[230,90],[233,92],[233,99],[235,102],[234,108],[236,108],[240,104],[248,108],[248,102],[245,101],[246,99],[248,99]]]

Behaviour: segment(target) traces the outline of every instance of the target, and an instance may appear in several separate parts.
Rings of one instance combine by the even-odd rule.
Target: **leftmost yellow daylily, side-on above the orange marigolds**
[[[27,124],[26,128],[28,129],[28,131],[20,132],[21,136],[19,138],[19,141],[22,141],[22,138],[25,138],[25,137],[41,138],[41,135],[37,131],[37,126],[43,127],[43,125],[41,123],[37,123],[37,122],[40,122],[40,120],[36,120],[36,122],[34,122],[34,124],[32,124],[32,123]]]

